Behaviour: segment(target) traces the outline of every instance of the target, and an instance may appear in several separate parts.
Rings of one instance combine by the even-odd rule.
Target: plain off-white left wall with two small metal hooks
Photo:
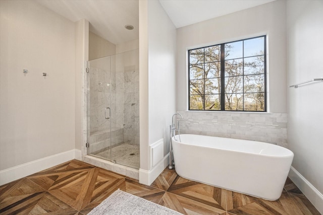
[[[4,170],[75,148],[75,40],[73,22],[37,3],[0,4]]]

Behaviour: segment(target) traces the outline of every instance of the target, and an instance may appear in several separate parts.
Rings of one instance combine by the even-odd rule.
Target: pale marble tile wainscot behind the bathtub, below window
[[[287,147],[287,113],[178,111],[181,133],[269,142]]]

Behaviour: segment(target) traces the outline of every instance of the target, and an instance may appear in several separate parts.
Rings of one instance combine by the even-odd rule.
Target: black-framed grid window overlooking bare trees
[[[266,111],[265,41],[189,50],[189,110]]]

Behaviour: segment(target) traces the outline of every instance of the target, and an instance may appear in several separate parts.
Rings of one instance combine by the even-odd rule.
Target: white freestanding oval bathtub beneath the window
[[[265,142],[195,134],[172,138],[175,170],[183,178],[276,200],[294,154]]]

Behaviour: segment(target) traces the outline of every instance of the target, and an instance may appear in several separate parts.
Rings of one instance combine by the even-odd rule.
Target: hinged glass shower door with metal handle
[[[87,154],[112,160],[111,57],[88,61]]]

